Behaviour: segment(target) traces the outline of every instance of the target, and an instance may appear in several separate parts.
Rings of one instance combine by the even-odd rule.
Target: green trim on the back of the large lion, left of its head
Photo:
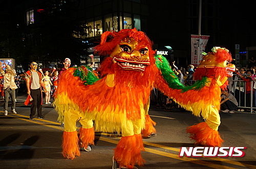
[[[83,70],[82,67],[85,67],[86,70]],[[99,78],[93,73],[93,69],[89,66],[80,66],[74,67],[76,70],[74,71],[73,75],[75,77],[79,77],[80,80],[83,81],[83,85],[93,85]]]

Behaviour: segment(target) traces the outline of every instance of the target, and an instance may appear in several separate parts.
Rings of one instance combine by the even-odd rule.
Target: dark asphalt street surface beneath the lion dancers
[[[119,135],[95,131],[95,146],[91,152],[81,149],[76,159],[65,159],[61,154],[63,127],[57,122],[55,109],[43,104],[45,119],[29,120],[30,106],[23,104],[25,100],[26,94],[19,94],[17,114],[8,116],[4,116],[4,101],[0,100],[0,168],[112,168],[113,149]],[[203,122],[202,118],[179,109],[172,112],[157,109],[154,104],[150,115],[157,122],[157,135],[143,139],[142,157],[146,162],[144,166],[136,165],[138,168],[256,168],[256,114],[220,114],[219,132],[225,140],[222,147],[247,147],[244,157],[222,158],[179,157],[181,147],[196,147],[186,127]]]

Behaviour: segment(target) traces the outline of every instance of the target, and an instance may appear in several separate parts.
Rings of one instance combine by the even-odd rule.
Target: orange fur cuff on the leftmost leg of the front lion
[[[77,131],[64,131],[62,136],[63,157],[73,160],[75,156],[80,156],[78,142]]]

